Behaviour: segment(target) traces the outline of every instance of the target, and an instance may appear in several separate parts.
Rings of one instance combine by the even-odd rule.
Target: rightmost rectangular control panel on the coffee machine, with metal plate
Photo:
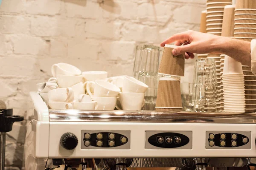
[[[206,149],[250,149],[250,131],[207,131]]]

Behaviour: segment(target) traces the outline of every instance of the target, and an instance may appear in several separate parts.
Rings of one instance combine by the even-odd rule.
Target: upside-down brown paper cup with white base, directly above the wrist
[[[235,14],[235,5],[225,6],[224,8],[224,17],[221,36],[224,37],[233,37],[234,36],[234,14]]]

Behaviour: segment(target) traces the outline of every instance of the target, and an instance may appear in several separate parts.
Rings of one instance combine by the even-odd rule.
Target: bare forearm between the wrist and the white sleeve
[[[232,57],[242,65],[251,66],[250,42],[222,37],[221,43],[216,46],[221,54]]]

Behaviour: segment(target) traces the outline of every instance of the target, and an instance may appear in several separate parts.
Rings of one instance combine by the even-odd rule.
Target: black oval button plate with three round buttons
[[[148,138],[148,143],[155,147],[175,148],[189,143],[189,138],[180,133],[164,132],[157,133]]]

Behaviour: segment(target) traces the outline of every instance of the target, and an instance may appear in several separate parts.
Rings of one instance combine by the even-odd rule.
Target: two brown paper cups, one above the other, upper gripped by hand
[[[181,111],[182,100],[180,81],[177,77],[184,77],[184,55],[174,56],[172,50],[175,45],[165,45],[158,74],[169,77],[159,79],[157,89],[156,111]]]

